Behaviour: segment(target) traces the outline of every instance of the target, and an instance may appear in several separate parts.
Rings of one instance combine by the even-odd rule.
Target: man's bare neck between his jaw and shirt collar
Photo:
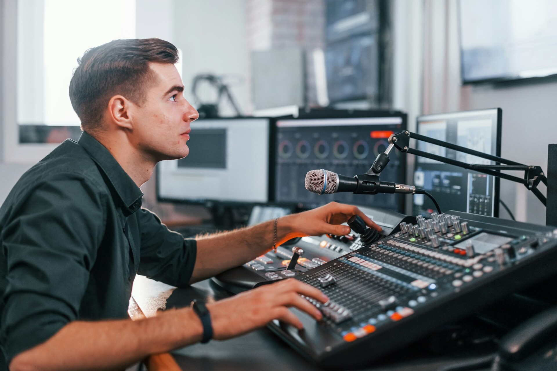
[[[118,139],[111,140],[109,138]],[[113,155],[114,159],[138,187],[143,185],[153,175],[153,169],[157,161],[150,159],[149,156],[136,149],[127,140],[127,137],[122,136],[121,133],[114,136],[95,135],[95,139]]]

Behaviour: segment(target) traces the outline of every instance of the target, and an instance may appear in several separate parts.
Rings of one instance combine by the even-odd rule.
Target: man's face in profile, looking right
[[[199,117],[185,100],[182,79],[170,63],[149,63],[157,79],[145,102],[135,106],[133,140],[149,160],[182,159],[189,153],[190,124]]]

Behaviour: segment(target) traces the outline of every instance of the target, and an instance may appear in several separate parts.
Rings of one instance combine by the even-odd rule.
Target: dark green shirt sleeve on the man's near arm
[[[56,177],[14,205],[2,230],[7,286],[0,336],[8,363],[79,318],[104,233],[98,187],[79,175]]]

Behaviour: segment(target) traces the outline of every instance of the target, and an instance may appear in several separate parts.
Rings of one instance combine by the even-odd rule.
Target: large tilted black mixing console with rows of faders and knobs
[[[557,273],[557,230],[449,211],[296,274],[328,303],[270,328],[324,368],[365,367],[442,324]]]

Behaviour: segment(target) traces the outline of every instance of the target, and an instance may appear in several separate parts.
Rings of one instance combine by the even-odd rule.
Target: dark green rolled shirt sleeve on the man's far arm
[[[173,286],[187,286],[196,264],[197,241],[184,239],[162,224],[153,212],[138,210],[141,261],[138,274]]]

